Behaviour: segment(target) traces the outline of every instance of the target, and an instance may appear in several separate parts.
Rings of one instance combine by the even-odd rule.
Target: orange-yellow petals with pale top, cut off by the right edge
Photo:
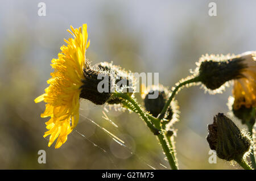
[[[242,70],[242,78],[234,80],[234,110],[241,106],[256,107],[256,52],[245,52],[237,57],[243,59],[246,68]]]

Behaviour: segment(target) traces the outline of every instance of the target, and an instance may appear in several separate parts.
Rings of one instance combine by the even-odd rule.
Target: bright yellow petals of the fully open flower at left
[[[44,137],[49,137],[49,144],[56,140],[55,148],[60,148],[67,141],[67,136],[76,127],[79,121],[79,96],[82,86],[81,79],[84,78],[83,69],[88,68],[85,52],[90,45],[87,43],[87,25],[83,24],[79,29],[67,30],[74,39],[64,41],[68,44],[63,45],[58,54],[58,58],[52,59],[51,78],[47,81],[49,86],[45,89],[46,93],[35,99],[35,103],[46,102],[46,110],[41,117],[51,117],[46,122],[48,131]]]

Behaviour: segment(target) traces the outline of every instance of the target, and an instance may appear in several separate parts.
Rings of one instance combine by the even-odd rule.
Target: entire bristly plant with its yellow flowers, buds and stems
[[[225,86],[233,83],[233,115],[246,124],[249,134],[240,129],[231,119],[222,113],[214,117],[208,126],[207,141],[210,149],[216,150],[217,156],[226,161],[236,161],[244,169],[255,169],[253,127],[256,107],[256,61],[255,52],[238,55],[202,56],[197,68],[191,75],[181,79],[171,90],[162,85],[142,86],[143,103],[138,103],[135,96],[133,76],[109,62],[91,65],[85,53],[89,48],[87,25],[75,29],[71,26],[73,39],[65,40],[67,45],[60,49],[57,59],[52,60],[51,78],[45,93],[35,99],[35,103],[46,102],[46,110],[41,117],[50,117],[46,122],[49,136],[48,146],[56,141],[55,148],[60,148],[67,141],[68,134],[79,122],[80,99],[102,105],[119,105],[135,112],[146,123],[149,130],[158,138],[171,169],[179,169],[175,150],[175,123],[179,120],[179,107],[175,95],[184,86],[201,85],[210,94],[220,93]],[[104,90],[98,86],[104,79]],[[151,99],[152,94],[158,96]],[[142,106],[143,105],[143,106]],[[250,162],[246,155],[250,154]]]

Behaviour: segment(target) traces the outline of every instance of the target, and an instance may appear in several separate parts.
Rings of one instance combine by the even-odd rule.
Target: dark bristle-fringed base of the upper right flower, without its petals
[[[205,54],[196,62],[197,68],[191,73],[200,78],[202,87],[210,94],[221,93],[232,79],[242,78],[246,64],[243,57]]]

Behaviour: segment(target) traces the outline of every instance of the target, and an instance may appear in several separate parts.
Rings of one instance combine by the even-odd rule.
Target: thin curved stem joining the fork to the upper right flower
[[[174,91],[172,91],[172,94],[171,94],[170,98],[168,99],[168,101],[164,105],[163,110],[158,115],[158,119],[162,120],[164,118],[164,115],[166,114],[167,108],[170,106],[172,99],[174,99],[174,96],[175,96],[176,92],[180,89],[180,87],[182,87],[182,86],[184,86],[188,83],[199,82],[199,81],[200,81],[200,78],[195,77],[195,78],[192,78],[192,79],[188,79],[187,81],[181,82],[179,85],[177,85],[175,87]]]

